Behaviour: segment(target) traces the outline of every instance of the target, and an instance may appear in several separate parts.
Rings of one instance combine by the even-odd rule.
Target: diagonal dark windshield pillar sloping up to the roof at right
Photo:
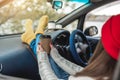
[[[61,18],[60,20],[57,21],[57,23],[60,23],[63,25],[63,27],[67,26],[69,23],[73,22],[77,18],[80,18],[80,16],[86,15],[88,12],[91,10],[98,8],[102,5],[105,5],[110,2],[114,2],[117,0],[93,0],[92,4],[86,4],[85,6],[82,6],[82,8],[78,8],[75,11],[71,12],[70,14],[66,15],[64,18]]]

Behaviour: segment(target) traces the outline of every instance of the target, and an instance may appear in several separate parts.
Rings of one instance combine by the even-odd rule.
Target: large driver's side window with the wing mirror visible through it
[[[89,12],[84,23],[84,33],[87,36],[101,37],[103,24],[112,16],[120,14],[120,1],[115,1]]]

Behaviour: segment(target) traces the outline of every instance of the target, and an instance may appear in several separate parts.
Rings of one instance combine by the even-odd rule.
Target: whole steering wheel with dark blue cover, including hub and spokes
[[[80,30],[74,30],[70,35],[70,52],[75,62],[83,67],[87,65],[92,55],[91,47],[86,36]]]

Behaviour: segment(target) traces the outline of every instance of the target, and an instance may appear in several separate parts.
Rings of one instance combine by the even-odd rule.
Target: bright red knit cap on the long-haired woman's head
[[[118,60],[120,54],[120,15],[112,16],[103,25],[102,43],[107,53]]]

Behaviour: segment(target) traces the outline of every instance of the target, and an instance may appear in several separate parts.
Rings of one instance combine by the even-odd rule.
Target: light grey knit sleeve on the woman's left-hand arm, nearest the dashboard
[[[50,66],[48,55],[46,52],[40,52],[37,55],[39,74],[42,80],[58,80],[57,76],[52,71]]]

